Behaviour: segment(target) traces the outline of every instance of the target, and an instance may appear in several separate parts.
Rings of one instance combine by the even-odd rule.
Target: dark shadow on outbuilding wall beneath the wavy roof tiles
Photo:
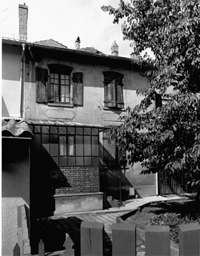
[[[5,135],[5,132],[2,133]],[[10,135],[10,134],[9,134]],[[28,139],[2,139],[2,197],[21,197],[29,205]]]

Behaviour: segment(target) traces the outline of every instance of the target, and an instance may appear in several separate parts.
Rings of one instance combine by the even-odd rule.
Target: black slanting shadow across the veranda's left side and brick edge
[[[45,147],[31,149],[30,202],[33,216],[53,215],[57,188],[70,187],[67,178]]]

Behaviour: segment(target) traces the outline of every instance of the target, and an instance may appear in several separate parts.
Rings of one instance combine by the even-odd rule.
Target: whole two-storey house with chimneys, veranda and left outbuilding
[[[25,21],[24,21],[25,20]],[[111,45],[75,48],[52,40],[27,42],[27,6],[19,5],[17,39],[2,38],[2,254],[17,241],[17,207],[41,216],[97,210],[105,195],[129,187],[156,193],[155,175],[127,166],[110,127],[147,80]],[[153,106],[152,106],[153,107]],[[30,209],[30,213],[29,213]]]

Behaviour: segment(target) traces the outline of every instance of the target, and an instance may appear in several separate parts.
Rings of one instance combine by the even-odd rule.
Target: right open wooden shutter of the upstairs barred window
[[[83,104],[83,84],[82,84],[82,72],[75,72],[72,76],[73,81],[73,104]]]

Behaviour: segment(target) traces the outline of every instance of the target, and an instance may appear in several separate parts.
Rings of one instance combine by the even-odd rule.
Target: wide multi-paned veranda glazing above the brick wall
[[[33,133],[34,154],[44,166],[98,165],[98,128],[33,125]]]

